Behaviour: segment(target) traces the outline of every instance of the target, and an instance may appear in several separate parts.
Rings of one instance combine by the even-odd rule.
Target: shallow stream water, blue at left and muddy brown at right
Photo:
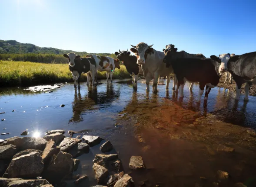
[[[149,187],[208,187],[218,182],[218,170],[231,176],[219,186],[231,187],[236,182],[256,186],[256,133],[250,130],[256,129],[256,97],[249,96],[244,103],[241,95],[235,102],[235,93],[214,88],[207,104],[203,97],[198,104],[196,84],[192,92],[186,85],[181,99],[173,90],[166,91],[165,85],[159,85],[154,94],[152,87],[146,93],[141,83],[137,92],[130,81],[102,83],[97,87],[83,84],[80,90],[66,84],[53,93],[1,89],[0,112],[6,113],[0,115],[5,119],[0,121],[0,132],[10,135],[0,139],[20,136],[25,129],[30,136],[40,137],[52,129],[80,131],[73,136],[98,135],[110,140],[115,148],[111,153],[119,154],[136,186],[144,181]],[[96,185],[92,161],[100,154],[100,145],[78,157],[75,174],[89,176],[78,186]],[[130,170],[132,155],[142,156],[146,169]],[[67,183],[74,186],[73,181]]]

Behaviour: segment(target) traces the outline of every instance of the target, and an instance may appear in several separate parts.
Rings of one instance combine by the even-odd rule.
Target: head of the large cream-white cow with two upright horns
[[[131,52],[134,52],[137,56],[137,64],[145,64],[146,57],[149,53],[153,52],[153,45],[147,45],[144,42],[138,43],[136,46],[131,45]]]

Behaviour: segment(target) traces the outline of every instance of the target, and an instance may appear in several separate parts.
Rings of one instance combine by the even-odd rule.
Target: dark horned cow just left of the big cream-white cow
[[[136,56],[130,55],[131,53],[127,51],[120,51],[115,52],[115,55],[117,56],[117,59],[122,61],[124,66],[126,67],[126,70],[130,74],[130,76],[133,77],[133,90],[137,90],[137,82],[139,78],[139,74],[143,74],[141,65],[137,64],[137,58]]]

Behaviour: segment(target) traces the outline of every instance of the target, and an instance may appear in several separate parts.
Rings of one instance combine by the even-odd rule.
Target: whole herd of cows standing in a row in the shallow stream
[[[232,78],[236,82],[236,100],[239,100],[239,94],[242,84],[245,86],[245,98],[248,100],[249,88],[256,83],[256,52],[250,52],[243,55],[222,54],[219,57],[211,55],[206,58],[202,54],[190,54],[185,51],[177,52],[174,45],[166,45],[163,52],[156,51],[153,45],[139,43],[131,45],[130,49],[136,56],[126,51],[115,52],[117,59],[98,55],[86,55],[80,58],[75,53],[64,54],[69,59],[69,69],[72,72],[74,86],[76,82],[80,87],[80,77],[82,73],[87,74],[87,85],[92,81],[97,84],[97,71],[106,71],[106,79],[112,82],[112,75],[115,68],[120,69],[120,61],[125,65],[128,73],[133,77],[133,89],[137,90],[137,81],[139,74],[142,74],[146,80],[146,92],[150,91],[150,81],[153,79],[153,91],[157,92],[157,84],[160,76],[167,78],[166,89],[169,89],[170,76],[174,74],[173,90],[180,93],[183,97],[183,88],[186,82],[189,82],[190,89],[193,83],[199,83],[199,94],[197,102],[200,102],[201,96],[206,87],[204,100],[208,99],[211,88],[216,87],[222,74],[226,75],[226,80],[231,83]],[[90,78],[89,78],[90,77]]]

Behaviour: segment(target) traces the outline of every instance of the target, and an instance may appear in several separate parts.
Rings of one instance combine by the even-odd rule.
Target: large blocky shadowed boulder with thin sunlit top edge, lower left
[[[8,178],[36,178],[43,172],[43,158],[40,153],[32,152],[13,158],[8,167]]]

